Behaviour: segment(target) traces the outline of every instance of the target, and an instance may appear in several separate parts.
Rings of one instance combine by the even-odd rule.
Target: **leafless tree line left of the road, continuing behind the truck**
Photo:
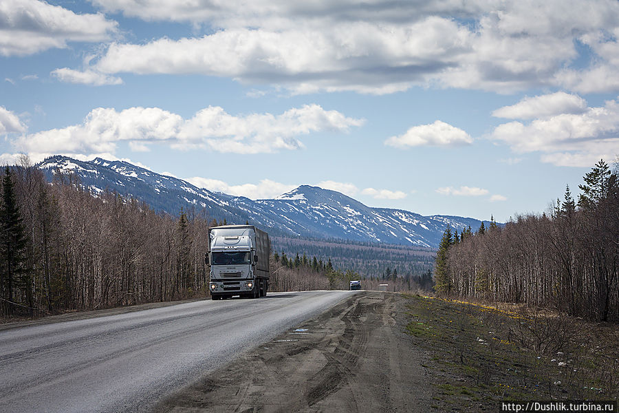
[[[204,297],[208,228],[222,224],[204,209],[173,216],[113,191],[93,193],[72,173],[47,182],[23,158],[0,169],[1,315]],[[348,288],[358,279],[330,259],[271,260],[270,290]]]

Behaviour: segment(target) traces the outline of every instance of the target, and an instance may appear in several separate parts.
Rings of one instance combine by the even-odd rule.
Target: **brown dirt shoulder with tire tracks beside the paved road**
[[[406,298],[362,292],[169,396],[155,412],[426,412]]]

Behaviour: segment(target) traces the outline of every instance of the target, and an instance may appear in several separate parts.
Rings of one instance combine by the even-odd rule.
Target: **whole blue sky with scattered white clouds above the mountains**
[[[505,222],[619,155],[617,0],[0,1],[0,163]]]

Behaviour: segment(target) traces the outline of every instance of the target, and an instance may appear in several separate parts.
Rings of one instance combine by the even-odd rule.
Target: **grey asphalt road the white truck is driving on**
[[[0,331],[0,412],[142,412],[356,292],[269,293]]]

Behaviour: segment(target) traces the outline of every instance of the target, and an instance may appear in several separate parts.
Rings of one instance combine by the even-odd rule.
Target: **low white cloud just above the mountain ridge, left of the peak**
[[[206,188],[209,191],[224,192],[235,196],[244,196],[252,200],[275,198],[277,195],[292,191],[292,189],[298,187],[298,185],[283,184],[281,182],[275,182],[269,179],[263,179],[258,184],[230,185],[221,180],[196,176],[187,179],[187,182],[191,182],[199,188]]]

